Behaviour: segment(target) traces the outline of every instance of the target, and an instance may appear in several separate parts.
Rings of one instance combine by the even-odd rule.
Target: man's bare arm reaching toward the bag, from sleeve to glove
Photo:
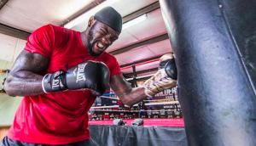
[[[144,87],[132,88],[128,81],[125,81],[124,77],[119,74],[110,78],[110,87],[113,92],[120,98],[122,103],[132,106],[147,98],[144,93]]]

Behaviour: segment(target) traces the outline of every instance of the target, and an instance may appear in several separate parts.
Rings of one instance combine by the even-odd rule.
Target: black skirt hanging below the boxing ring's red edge
[[[188,146],[184,127],[179,126],[89,125],[89,129],[97,145]]]

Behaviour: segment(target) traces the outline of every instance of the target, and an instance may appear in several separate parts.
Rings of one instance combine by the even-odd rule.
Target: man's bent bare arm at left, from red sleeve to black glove
[[[39,53],[23,50],[15,60],[4,83],[9,96],[35,96],[43,94],[43,73],[49,66],[49,58]]]

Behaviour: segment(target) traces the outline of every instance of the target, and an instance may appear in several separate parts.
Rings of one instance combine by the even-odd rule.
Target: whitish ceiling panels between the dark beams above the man
[[[123,30],[119,40],[107,49],[108,53],[118,59],[121,68],[158,59],[161,55],[172,52],[158,0],[116,1],[111,6],[122,15],[123,21],[143,12],[147,14],[146,20]],[[105,0],[9,0],[0,10],[0,23],[21,31],[32,32],[42,25],[64,25],[79,14],[104,2]],[[153,5],[158,6],[148,12],[147,9],[152,8]],[[85,19],[82,23],[74,25],[72,29],[84,31],[87,21]],[[138,76],[154,73],[157,66],[158,62],[137,65]],[[131,75],[132,68],[122,72]]]

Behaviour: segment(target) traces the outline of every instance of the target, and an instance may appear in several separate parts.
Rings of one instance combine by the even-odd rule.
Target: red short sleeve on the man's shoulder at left
[[[40,53],[50,58],[54,46],[54,30],[51,25],[44,25],[33,31],[27,38],[26,51],[30,53]]]

